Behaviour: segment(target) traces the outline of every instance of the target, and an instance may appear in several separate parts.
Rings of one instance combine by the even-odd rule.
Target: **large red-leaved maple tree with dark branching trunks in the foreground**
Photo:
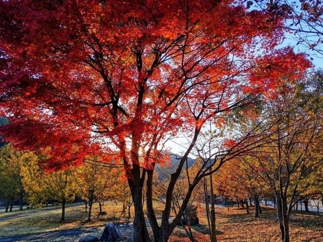
[[[93,153],[123,164],[134,241],[149,241],[147,176],[147,216],[155,241],[167,241],[187,204],[170,222],[170,198],[205,122],[275,95],[309,67],[302,54],[277,48],[282,25],[283,17],[244,1],[1,1],[0,114],[10,120],[2,135],[47,154],[48,169]],[[167,159],[164,142],[180,132],[191,140],[158,225],[153,170]]]

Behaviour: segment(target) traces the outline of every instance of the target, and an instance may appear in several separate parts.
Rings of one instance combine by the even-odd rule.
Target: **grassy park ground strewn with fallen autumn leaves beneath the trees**
[[[0,241],[74,241],[86,233],[95,233],[100,236],[106,223],[119,224],[124,240],[132,241],[132,219],[120,216],[122,204],[106,203],[106,214],[99,215],[98,205],[93,205],[92,221],[88,222],[84,204],[74,204],[66,209],[66,221],[60,222],[61,210],[59,207],[48,207],[0,213]],[[157,217],[161,214],[161,206],[156,204]],[[279,227],[277,226],[276,210],[263,207],[259,218],[241,208],[217,207],[218,241],[280,241]],[[192,226],[197,241],[209,241],[207,221],[203,206],[199,210],[200,224]],[[133,211],[132,211],[133,215]],[[291,241],[318,242],[323,238],[323,216],[315,213],[293,212],[290,222]],[[178,226],[170,238],[171,242],[189,241],[185,230]]]

